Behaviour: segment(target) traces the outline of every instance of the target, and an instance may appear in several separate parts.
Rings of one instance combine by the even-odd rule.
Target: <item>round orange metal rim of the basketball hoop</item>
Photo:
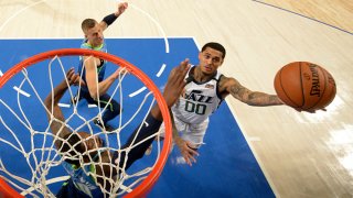
[[[169,148],[171,146],[171,119],[168,110],[168,106],[164,101],[164,98],[162,94],[159,91],[158,87],[154,85],[154,82],[138,67],[133,66],[129,62],[119,58],[117,56],[114,56],[108,53],[103,53],[99,51],[92,51],[92,50],[83,50],[83,48],[61,48],[61,50],[54,50],[44,52],[38,55],[34,55],[32,57],[26,58],[25,61],[17,64],[12,68],[10,68],[8,72],[3,74],[2,77],[0,77],[0,88],[10,79],[12,76],[17,75],[20,70],[23,68],[30,67],[33,64],[36,64],[39,62],[42,62],[44,59],[54,58],[55,56],[75,56],[75,55],[82,55],[82,56],[95,56],[103,58],[105,61],[111,62],[116,65],[119,65],[121,67],[126,67],[130,74],[135,75],[137,78],[139,78],[146,87],[153,92],[153,96],[157,100],[158,106],[161,109],[163,122],[165,125],[165,136],[163,141],[163,147],[160,154],[160,157],[157,160],[157,163],[154,165],[154,168],[151,170],[151,173],[147,176],[143,182],[139,186],[137,186],[131,193],[127,194],[126,197],[141,197],[146,195],[152,186],[156,184],[158,177],[160,176],[165,162],[168,160]],[[4,193],[6,195],[11,195],[13,197],[22,197],[18,191],[15,191],[13,188],[11,188],[4,180],[0,178],[0,190]]]

